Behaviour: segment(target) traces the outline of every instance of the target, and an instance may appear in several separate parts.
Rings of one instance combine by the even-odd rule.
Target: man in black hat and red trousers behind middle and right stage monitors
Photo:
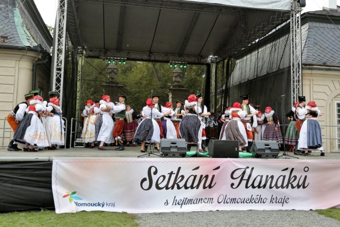
[[[244,125],[247,133],[247,140],[248,140],[248,147],[247,152],[250,152],[251,144],[253,141],[253,131],[257,127],[257,118],[256,115],[253,115],[256,110],[254,107],[249,105],[249,95],[243,95],[240,97],[242,100],[241,108],[242,110],[247,112],[247,115],[252,115],[252,117],[246,116],[245,118],[241,119],[242,124]],[[252,119],[251,119],[252,118]],[[252,126],[251,126],[252,122]]]

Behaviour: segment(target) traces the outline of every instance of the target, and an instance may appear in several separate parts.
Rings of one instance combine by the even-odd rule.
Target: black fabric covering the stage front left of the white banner
[[[55,209],[52,162],[0,162],[0,212]]]

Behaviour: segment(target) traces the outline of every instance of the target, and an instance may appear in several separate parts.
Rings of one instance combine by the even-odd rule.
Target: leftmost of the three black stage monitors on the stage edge
[[[185,139],[161,139],[159,154],[164,157],[185,158]]]

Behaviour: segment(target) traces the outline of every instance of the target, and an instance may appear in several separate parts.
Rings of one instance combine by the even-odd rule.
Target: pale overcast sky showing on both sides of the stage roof
[[[54,27],[58,0],[34,0],[34,2],[45,24]],[[337,0],[337,3],[340,5],[340,0]],[[306,7],[302,12],[321,10],[323,5],[323,0],[306,0]]]

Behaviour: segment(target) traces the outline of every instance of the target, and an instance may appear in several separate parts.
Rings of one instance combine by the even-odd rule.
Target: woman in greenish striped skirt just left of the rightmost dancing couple
[[[295,118],[295,112],[296,107],[299,105],[299,102],[295,102],[292,106],[292,109],[286,114],[286,117],[290,121],[288,128],[286,130],[286,135],[284,137],[284,143],[290,145],[289,151],[293,151],[294,146],[299,141],[299,131],[296,128],[296,118]]]

